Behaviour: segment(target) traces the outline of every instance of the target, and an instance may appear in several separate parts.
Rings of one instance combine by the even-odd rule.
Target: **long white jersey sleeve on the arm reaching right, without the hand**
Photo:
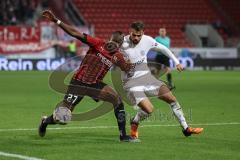
[[[155,39],[151,37],[149,37],[149,45],[151,46],[151,49],[157,52],[161,52],[167,57],[169,57],[170,59],[172,59],[176,65],[180,63],[179,60],[176,58],[176,56],[167,47],[158,43]]]

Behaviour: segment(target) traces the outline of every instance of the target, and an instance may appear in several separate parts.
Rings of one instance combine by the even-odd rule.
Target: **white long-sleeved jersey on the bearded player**
[[[162,51],[166,56],[171,58],[175,64],[179,64],[179,61],[172,54],[172,52],[167,47],[158,43],[152,37],[143,35],[140,42],[134,45],[130,41],[129,35],[127,35],[124,37],[124,43],[121,47],[121,52],[130,60],[131,63],[134,63],[135,66],[131,73],[126,74],[125,72],[122,72],[122,80],[124,82],[150,73],[150,70],[147,66],[147,53],[151,49]]]

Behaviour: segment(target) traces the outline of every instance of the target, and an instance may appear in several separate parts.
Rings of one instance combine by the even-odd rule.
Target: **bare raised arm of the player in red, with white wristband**
[[[79,40],[84,39],[84,35],[81,32],[76,30],[74,27],[67,25],[67,24],[63,23],[62,21],[60,21],[50,10],[43,11],[42,16],[47,18],[48,20],[56,23],[58,26],[60,26],[66,33],[68,33],[72,37],[75,37]]]

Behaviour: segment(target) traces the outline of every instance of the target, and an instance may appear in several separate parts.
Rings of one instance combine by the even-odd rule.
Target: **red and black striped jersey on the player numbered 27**
[[[89,45],[89,50],[74,74],[74,79],[87,84],[97,83],[103,80],[113,64],[123,71],[130,70],[131,65],[124,60],[122,53],[110,53],[104,49],[104,40],[85,34],[83,42]]]

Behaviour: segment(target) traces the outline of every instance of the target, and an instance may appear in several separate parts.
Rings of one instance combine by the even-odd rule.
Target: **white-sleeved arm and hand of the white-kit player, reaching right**
[[[157,51],[157,52],[161,52],[164,55],[166,55],[167,57],[169,57],[170,59],[172,59],[174,61],[174,63],[176,64],[176,68],[179,72],[183,71],[183,66],[180,64],[179,60],[176,58],[176,56],[164,45],[158,43],[158,42],[154,42],[153,50]]]

